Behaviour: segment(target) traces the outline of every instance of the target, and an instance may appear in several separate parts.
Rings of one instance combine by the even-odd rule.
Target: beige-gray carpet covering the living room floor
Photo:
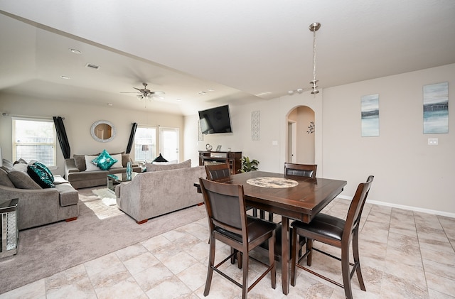
[[[90,188],[79,192],[77,220],[19,232],[18,253],[0,259],[0,293],[205,217],[205,208],[194,206],[137,224],[117,206],[102,203]]]

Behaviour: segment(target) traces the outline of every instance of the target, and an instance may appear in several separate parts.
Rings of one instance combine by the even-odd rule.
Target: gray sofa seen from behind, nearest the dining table
[[[146,169],[115,188],[117,206],[138,224],[203,202],[193,184],[205,178],[204,166],[191,167],[188,160],[171,165],[146,163]]]

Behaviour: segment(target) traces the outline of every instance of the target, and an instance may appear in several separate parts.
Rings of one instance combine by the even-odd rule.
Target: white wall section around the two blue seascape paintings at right
[[[422,87],[449,82],[449,134],[423,134]],[[361,137],[360,97],[379,94],[380,136]],[[348,180],[344,195],[375,175],[370,200],[455,213],[455,65],[323,92],[323,174]],[[428,138],[439,138],[429,146]],[[319,170],[319,168],[318,168]]]

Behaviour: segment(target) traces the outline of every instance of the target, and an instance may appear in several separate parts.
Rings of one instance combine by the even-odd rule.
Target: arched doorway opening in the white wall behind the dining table
[[[310,107],[295,107],[287,114],[286,162],[315,163],[314,110]]]

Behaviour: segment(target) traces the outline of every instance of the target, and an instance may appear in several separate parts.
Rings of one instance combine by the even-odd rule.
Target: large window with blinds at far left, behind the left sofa
[[[13,118],[13,159],[55,163],[55,127],[52,119]]]

